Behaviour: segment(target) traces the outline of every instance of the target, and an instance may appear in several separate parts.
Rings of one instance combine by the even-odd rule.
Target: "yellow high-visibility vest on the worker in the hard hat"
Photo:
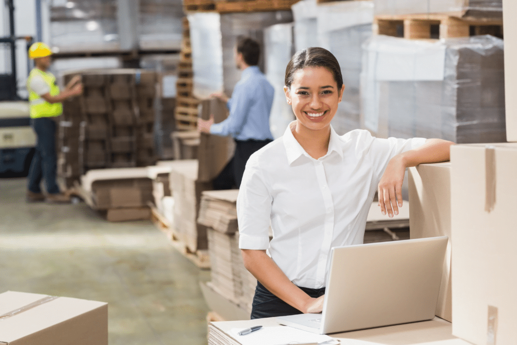
[[[31,71],[31,74],[29,74],[29,78],[27,79],[27,90],[29,92],[31,117],[39,118],[54,117],[61,115],[63,113],[62,103],[49,103],[31,89],[31,80],[34,78],[36,74],[39,74],[43,78],[45,83],[47,83],[50,86],[51,96],[59,95],[59,87],[56,85],[56,77],[54,77],[51,73],[43,72],[38,68],[34,68]]]

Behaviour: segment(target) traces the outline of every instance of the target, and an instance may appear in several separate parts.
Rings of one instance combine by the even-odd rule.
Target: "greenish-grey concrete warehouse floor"
[[[110,345],[206,344],[209,280],[150,221],[109,223],[85,204],[25,203],[0,179],[0,292],[109,303]]]

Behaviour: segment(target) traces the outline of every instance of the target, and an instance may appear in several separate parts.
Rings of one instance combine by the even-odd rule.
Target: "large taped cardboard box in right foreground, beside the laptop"
[[[517,339],[517,143],[451,147],[452,334]]]

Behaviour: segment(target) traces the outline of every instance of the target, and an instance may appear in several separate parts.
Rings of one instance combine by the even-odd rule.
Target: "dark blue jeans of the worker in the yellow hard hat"
[[[56,183],[56,123],[52,117],[31,118],[31,126],[38,139],[29,170],[28,189],[41,193],[40,183],[43,178],[47,193],[59,193]]]

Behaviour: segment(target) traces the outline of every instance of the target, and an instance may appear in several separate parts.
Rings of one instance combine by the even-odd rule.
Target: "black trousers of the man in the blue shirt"
[[[235,140],[235,154],[233,158],[226,164],[219,176],[214,179],[213,186],[215,190],[234,189],[240,187],[242,175],[246,168],[246,162],[250,156],[269,144],[272,140]]]

